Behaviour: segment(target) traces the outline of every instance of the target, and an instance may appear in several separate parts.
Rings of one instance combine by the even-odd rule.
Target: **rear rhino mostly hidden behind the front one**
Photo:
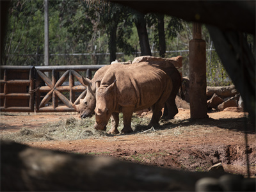
[[[113,63],[111,65],[102,67],[99,70],[97,70],[92,80],[83,77],[84,84],[88,86],[86,97],[80,100],[80,104],[73,106],[76,109],[76,111],[80,114],[80,117],[85,118],[86,116],[91,116],[94,113],[95,104],[96,104],[95,82],[100,81],[108,70],[112,70],[119,67],[122,67],[122,68],[136,67],[136,65],[140,65],[141,62],[154,63],[155,66],[158,65],[158,67],[162,68],[164,72],[166,72],[166,74],[168,74],[168,76],[172,78],[173,89],[169,99],[166,101],[166,104],[164,105],[164,114],[162,116],[162,118],[164,119],[172,119],[178,113],[178,109],[175,104],[175,97],[181,85],[180,73],[174,65],[181,65],[182,63],[181,56],[177,56],[176,58],[170,58],[170,59],[156,58],[152,56],[141,56],[138,58],[134,58],[134,60],[132,61],[132,65],[130,62],[125,62],[125,63]],[[112,122],[113,124],[115,124],[114,123],[115,120],[113,118],[112,118]]]

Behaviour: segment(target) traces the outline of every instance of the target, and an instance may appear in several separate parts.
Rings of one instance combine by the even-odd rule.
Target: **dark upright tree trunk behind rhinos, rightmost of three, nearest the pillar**
[[[166,52],[166,43],[164,35],[164,15],[157,15],[157,29],[159,39],[159,55],[161,58],[164,58]]]

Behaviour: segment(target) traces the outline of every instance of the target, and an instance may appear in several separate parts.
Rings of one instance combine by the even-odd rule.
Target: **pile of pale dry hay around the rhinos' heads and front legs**
[[[107,131],[97,131],[93,128],[95,123],[95,117],[85,118],[83,120],[77,120],[74,117],[67,118],[66,120],[60,120],[54,123],[45,124],[43,127],[36,129],[23,128],[19,132],[10,132],[1,135],[1,140],[15,141],[15,142],[29,142],[29,141],[50,141],[50,140],[84,140],[87,138],[101,138],[109,136],[107,131],[111,127],[109,121]],[[136,132],[144,131],[148,129],[148,118],[138,118],[132,116],[132,127],[136,129]],[[118,131],[121,132],[123,127],[122,113],[120,113],[120,123]]]

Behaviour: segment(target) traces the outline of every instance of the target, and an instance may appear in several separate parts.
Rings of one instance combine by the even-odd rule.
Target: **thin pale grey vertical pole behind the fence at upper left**
[[[48,0],[44,0],[44,65],[49,65],[49,15]]]

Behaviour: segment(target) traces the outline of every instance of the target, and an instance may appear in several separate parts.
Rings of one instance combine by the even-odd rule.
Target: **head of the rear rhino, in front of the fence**
[[[86,118],[92,116],[96,106],[95,99],[95,86],[92,83],[92,80],[83,77],[83,83],[87,86],[87,93],[84,99],[80,99],[78,105],[73,106],[76,111],[79,113],[80,118]]]

